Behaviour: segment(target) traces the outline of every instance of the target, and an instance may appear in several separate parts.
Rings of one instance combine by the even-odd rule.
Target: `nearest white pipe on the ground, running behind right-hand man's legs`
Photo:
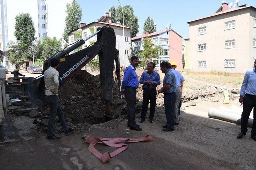
[[[227,111],[210,108],[210,110],[208,111],[208,116],[210,118],[220,119],[223,121],[228,121],[228,122],[241,125],[241,115],[238,115],[237,113],[230,113]],[[252,127],[252,123],[253,123],[253,119],[249,118],[248,127]]]

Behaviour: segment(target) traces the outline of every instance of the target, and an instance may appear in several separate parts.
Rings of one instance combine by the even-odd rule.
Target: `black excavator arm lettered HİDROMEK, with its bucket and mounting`
[[[97,35],[97,41],[93,45],[82,49],[76,53],[68,55],[74,49],[80,47],[86,40]],[[116,36],[114,29],[109,26],[99,28],[96,33],[86,39],[81,39],[69,48],[61,51],[52,58],[60,60],[57,68],[59,72],[59,86],[61,87],[66,81],[72,78],[76,72],[81,70],[96,55],[100,61],[100,83],[101,94],[105,100],[105,117],[109,119],[119,115],[123,108],[123,100],[113,101],[112,88],[114,84],[114,67],[116,66],[116,76],[118,88],[120,91],[120,65],[118,50],[116,49]],[[12,72],[14,77],[8,78],[5,83],[6,94],[9,97],[7,109],[13,109],[19,112],[28,112],[44,106],[44,71],[50,67],[50,60],[44,61],[43,74],[36,77],[24,77],[18,72]],[[116,61],[116,64],[114,64]],[[92,84],[93,86],[93,84]]]

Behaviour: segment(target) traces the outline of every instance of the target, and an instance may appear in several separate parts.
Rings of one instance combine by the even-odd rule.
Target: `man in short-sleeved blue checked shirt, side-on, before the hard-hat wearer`
[[[164,112],[166,115],[166,125],[162,126],[165,129],[162,131],[174,131],[174,111],[176,104],[176,78],[169,68],[169,63],[164,61],[160,64],[161,71],[164,72],[163,87],[158,90],[158,93],[164,93]]]

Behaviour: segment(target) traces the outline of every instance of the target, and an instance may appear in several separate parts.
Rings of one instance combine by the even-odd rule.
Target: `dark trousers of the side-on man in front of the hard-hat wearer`
[[[164,112],[167,127],[174,129],[174,113],[176,106],[176,92],[164,94]]]

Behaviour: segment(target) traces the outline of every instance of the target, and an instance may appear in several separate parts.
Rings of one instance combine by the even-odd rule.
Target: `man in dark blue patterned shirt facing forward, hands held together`
[[[156,64],[153,62],[148,63],[148,71],[144,71],[140,77],[140,84],[143,84],[143,100],[142,111],[140,114],[140,123],[145,121],[148,102],[150,101],[150,114],[149,121],[153,123],[153,117],[156,109],[156,86],[160,85],[160,76],[154,71]]]

